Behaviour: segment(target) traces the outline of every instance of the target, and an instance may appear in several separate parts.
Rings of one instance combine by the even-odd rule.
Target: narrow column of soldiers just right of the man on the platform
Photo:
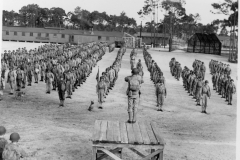
[[[152,59],[152,56],[148,53],[148,51],[143,49],[143,56],[145,59],[145,63],[147,65],[148,71],[150,72],[151,80],[155,84],[155,94],[157,96],[157,107],[158,111],[163,111],[162,106],[164,103],[164,97],[167,96],[166,82],[163,77],[163,72],[157,65],[157,63]]]

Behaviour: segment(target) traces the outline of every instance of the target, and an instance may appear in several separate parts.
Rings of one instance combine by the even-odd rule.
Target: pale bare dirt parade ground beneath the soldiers
[[[4,48],[4,44],[3,44]],[[9,48],[14,49],[14,48]],[[30,48],[29,48],[30,49]],[[112,65],[118,48],[107,52],[97,63],[100,73]],[[96,74],[94,67],[86,82],[79,87],[72,99],[65,101],[65,107],[59,108],[56,91],[46,94],[43,82],[28,86],[23,91],[23,101],[9,95],[6,84],[3,100],[0,102],[0,124],[7,128],[6,137],[12,132],[21,136],[20,145],[26,152],[36,152],[31,159],[39,160],[91,160],[92,134],[95,120],[125,122],[127,115],[126,76],[131,75],[130,49],[122,58],[118,79],[105,99],[103,109],[98,109],[96,94]],[[212,90],[212,75],[208,64],[211,59],[229,64],[226,57],[184,53],[182,51],[148,52],[161,68],[166,79],[167,98],[163,112],[157,111],[155,87],[150,80],[143,58],[142,49],[138,49],[137,60],[141,59],[144,68],[144,83],[141,87],[141,99],[138,107],[137,121],[156,122],[166,145],[164,160],[234,160],[236,159],[236,117],[237,93],[233,95],[233,105],[227,105],[225,99]],[[170,73],[169,61],[175,57],[182,67],[192,69],[195,59],[206,65],[206,80],[211,87],[211,99],[208,114],[201,113],[201,106],[185,91],[182,79],[177,81]],[[230,64],[231,77],[237,87],[237,64]],[[87,109],[94,101],[92,112]],[[123,159],[132,160],[139,157],[128,150],[123,150]]]

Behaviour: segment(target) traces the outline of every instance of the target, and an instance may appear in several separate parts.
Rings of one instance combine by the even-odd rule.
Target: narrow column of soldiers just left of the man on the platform
[[[113,50],[112,49],[110,50],[110,47],[109,47],[109,52],[111,51]],[[118,72],[121,68],[122,57],[125,52],[126,52],[126,47],[122,46],[118,50],[117,56],[113,64],[110,67],[106,68],[104,72],[102,72],[102,76],[100,77],[100,80],[99,80],[99,69],[98,69],[98,73],[96,76],[96,79],[97,79],[96,93],[98,95],[99,109],[103,109],[102,104],[105,102],[104,98],[106,98],[106,96],[109,93],[109,90],[112,90],[112,88],[116,83],[116,80],[118,78]]]

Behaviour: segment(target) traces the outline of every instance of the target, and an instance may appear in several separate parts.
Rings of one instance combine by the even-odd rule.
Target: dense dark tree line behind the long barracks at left
[[[23,6],[19,12],[3,10],[3,26],[24,27],[62,27],[66,29],[119,31],[136,33],[137,23],[125,12],[120,15],[108,15],[106,12],[82,9],[77,6],[74,11],[66,13],[63,8],[41,8],[37,4]]]

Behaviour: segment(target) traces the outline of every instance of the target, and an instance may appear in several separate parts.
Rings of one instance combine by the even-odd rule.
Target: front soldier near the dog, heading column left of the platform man
[[[99,103],[98,108],[103,109],[102,103],[104,102],[104,97],[107,92],[107,85],[104,82],[103,76],[100,77],[100,81],[98,82],[96,89],[97,89],[96,93],[98,95],[98,103]]]

